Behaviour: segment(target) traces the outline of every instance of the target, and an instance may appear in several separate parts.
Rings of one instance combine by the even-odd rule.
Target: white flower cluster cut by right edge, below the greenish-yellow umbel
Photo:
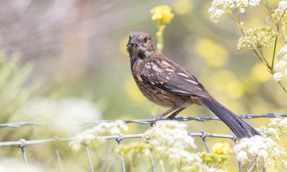
[[[287,3],[287,2],[286,2]],[[273,67],[275,81],[281,81],[281,77],[287,75],[287,45],[284,45],[277,54],[277,60],[279,60]]]

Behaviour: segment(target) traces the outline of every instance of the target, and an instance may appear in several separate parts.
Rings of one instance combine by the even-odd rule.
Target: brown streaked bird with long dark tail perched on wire
[[[169,107],[166,112],[153,116],[161,120],[175,116],[190,105],[207,107],[241,140],[261,135],[233,112],[219,103],[189,71],[156,51],[149,32],[133,30],[127,44],[131,72],[141,93],[151,102]],[[152,125],[153,126],[153,125]]]

